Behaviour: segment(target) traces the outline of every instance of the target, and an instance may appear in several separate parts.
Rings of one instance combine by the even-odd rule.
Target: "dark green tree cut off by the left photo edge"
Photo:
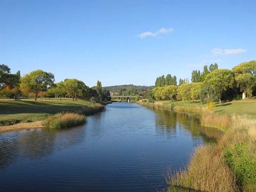
[[[7,65],[0,64],[0,91],[8,85],[15,87],[19,83],[17,74],[11,74],[10,70]]]

